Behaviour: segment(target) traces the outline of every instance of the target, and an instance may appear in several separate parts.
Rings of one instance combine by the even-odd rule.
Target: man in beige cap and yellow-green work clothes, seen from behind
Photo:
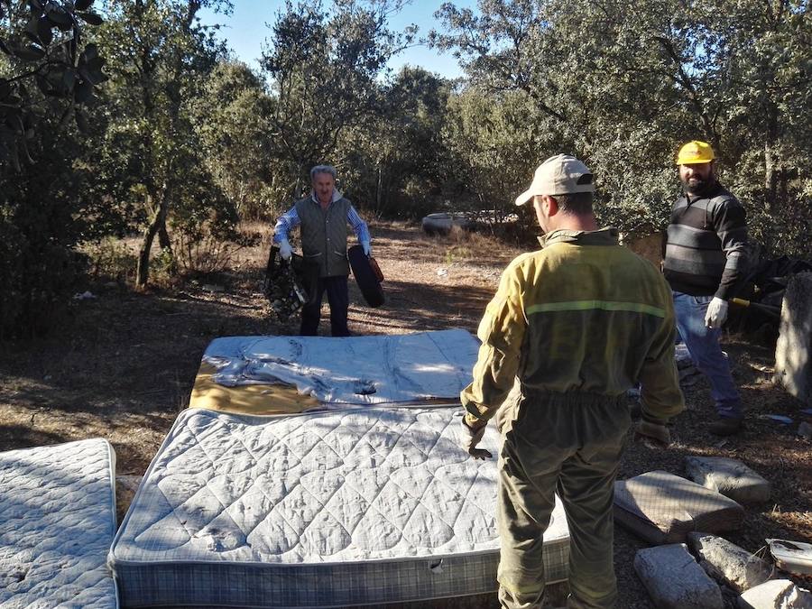
[[[540,607],[543,536],[561,498],[570,531],[570,607],[613,607],[614,479],[631,425],[626,392],[641,384],[638,433],[668,445],[683,408],[668,283],[599,229],[592,172],[572,156],[544,161],[530,189],[541,249],[503,272],[479,325],[474,382],[461,393],[465,448],[497,413],[499,600]],[[501,410],[500,410],[501,409]]]

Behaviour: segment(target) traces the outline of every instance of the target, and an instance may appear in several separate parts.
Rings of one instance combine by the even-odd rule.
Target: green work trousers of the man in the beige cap
[[[568,607],[614,607],[614,480],[632,424],[625,396],[516,392],[499,456],[503,607],[540,607],[542,540],[555,507],[570,534]],[[508,404],[505,404],[508,406]]]

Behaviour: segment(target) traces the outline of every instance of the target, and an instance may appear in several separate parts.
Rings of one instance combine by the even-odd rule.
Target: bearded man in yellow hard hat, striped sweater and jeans
[[[663,272],[674,292],[679,336],[711,385],[718,420],[711,433],[742,426],[743,408],[719,337],[728,300],[746,271],[744,208],[716,180],[715,154],[705,142],[688,142],[677,156],[685,194],[671,210]]]

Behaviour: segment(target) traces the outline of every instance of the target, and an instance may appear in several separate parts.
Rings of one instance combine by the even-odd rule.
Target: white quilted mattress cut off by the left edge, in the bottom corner
[[[0,607],[117,607],[115,453],[104,439],[0,453]]]

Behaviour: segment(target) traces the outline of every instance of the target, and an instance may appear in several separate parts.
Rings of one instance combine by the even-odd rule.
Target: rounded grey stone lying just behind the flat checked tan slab
[[[770,499],[770,483],[741,461],[727,457],[686,457],[687,476],[737,503]]]

